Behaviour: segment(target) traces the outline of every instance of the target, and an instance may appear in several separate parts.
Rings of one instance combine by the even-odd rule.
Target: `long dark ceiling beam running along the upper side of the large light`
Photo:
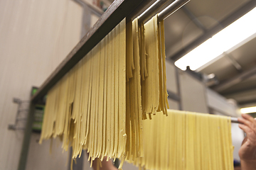
[[[251,0],[251,1],[247,2],[247,4],[240,7],[237,11],[230,13],[230,15],[228,17],[226,17],[225,19],[223,19],[222,21],[220,21],[220,23],[218,23],[218,25],[207,30],[203,35],[199,36],[196,40],[194,40],[190,44],[183,47],[181,50],[176,52],[174,55],[169,56],[169,58],[171,58],[171,60],[174,60],[174,61],[180,59],[181,57],[186,55],[188,52],[191,52],[191,50],[196,48],[198,45],[201,45],[201,43],[205,42],[206,40],[211,38],[213,35],[218,33],[220,30],[229,26],[231,23],[236,21],[238,18],[245,15],[245,13],[252,10],[252,8],[255,8],[255,6],[256,6],[255,0]]]

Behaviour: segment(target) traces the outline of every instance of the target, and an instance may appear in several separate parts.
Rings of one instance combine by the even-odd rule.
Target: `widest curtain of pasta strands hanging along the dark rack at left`
[[[124,157],[126,146],[126,20],[48,91],[41,139],[59,136],[73,159]]]

